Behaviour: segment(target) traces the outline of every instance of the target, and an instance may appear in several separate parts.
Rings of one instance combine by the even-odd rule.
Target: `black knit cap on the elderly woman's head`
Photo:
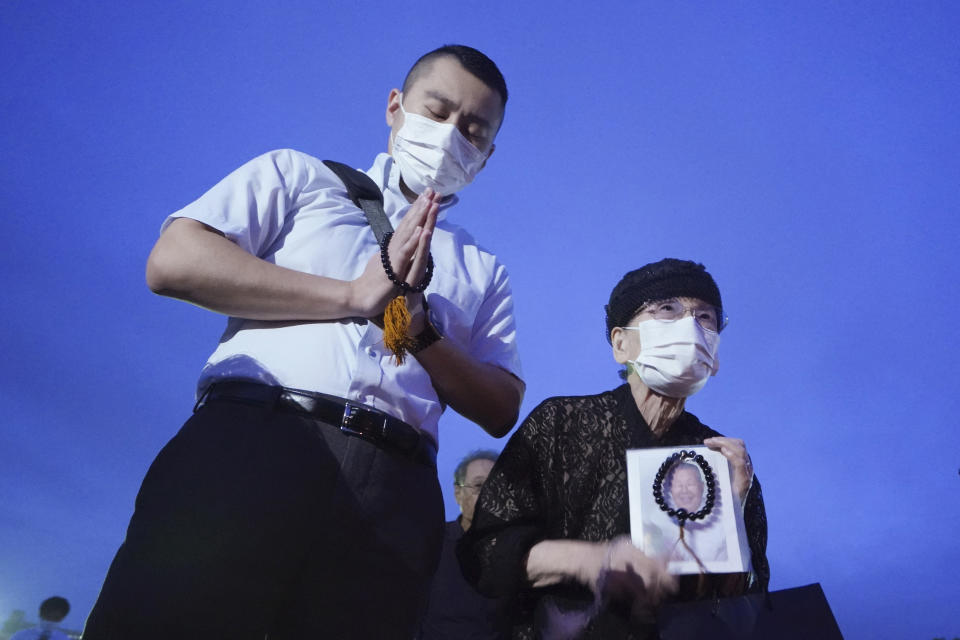
[[[626,326],[648,302],[668,298],[697,298],[717,308],[723,317],[720,289],[699,262],[664,258],[634,269],[620,279],[610,293],[607,312],[607,342],[614,327]]]

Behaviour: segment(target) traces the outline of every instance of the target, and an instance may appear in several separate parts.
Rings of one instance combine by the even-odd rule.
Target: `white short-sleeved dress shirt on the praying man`
[[[396,228],[410,203],[390,155],[366,172]],[[425,292],[440,333],[474,358],[521,377],[510,281],[497,257],[446,220],[441,205],[431,240],[433,279]],[[268,262],[353,280],[379,247],[363,211],[317,158],[281,149],[254,158],[198,200],[171,214],[198,220]],[[362,318],[268,322],[231,317],[204,366],[198,394],[224,378],[247,378],[339,396],[419,426],[437,439],[443,412],[430,376],[415,358],[398,366],[381,330]],[[439,442],[439,439],[437,439]]]

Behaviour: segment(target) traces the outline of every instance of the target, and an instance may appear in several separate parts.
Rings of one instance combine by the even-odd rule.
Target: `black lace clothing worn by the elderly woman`
[[[536,637],[534,620],[547,602],[560,609],[586,608],[592,594],[570,583],[530,588],[524,565],[530,547],[541,540],[600,542],[629,534],[626,450],[698,445],[717,435],[684,412],[669,431],[657,437],[628,385],[594,396],[544,401],[510,438],[483,486],[473,524],[459,545],[467,579],[482,593],[517,599],[512,637]],[[744,520],[756,574],[751,588],[765,589],[770,579],[767,521],[756,479],[747,496]],[[707,588],[724,590],[726,585],[718,581]],[[699,585],[701,592],[703,586]],[[651,625],[631,626],[628,613],[614,603],[581,637],[655,636]]]

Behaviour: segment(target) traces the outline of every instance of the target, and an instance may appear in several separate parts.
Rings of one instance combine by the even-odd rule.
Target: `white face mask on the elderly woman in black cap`
[[[720,335],[705,330],[691,316],[672,322],[644,320],[625,328],[640,336],[640,355],[630,366],[661,395],[692,396],[717,372]]]

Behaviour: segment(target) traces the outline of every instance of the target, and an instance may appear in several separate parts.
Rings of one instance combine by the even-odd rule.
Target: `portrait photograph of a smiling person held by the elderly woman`
[[[671,573],[750,571],[743,509],[720,452],[705,446],[630,449],[627,490],[633,544],[667,558]]]

